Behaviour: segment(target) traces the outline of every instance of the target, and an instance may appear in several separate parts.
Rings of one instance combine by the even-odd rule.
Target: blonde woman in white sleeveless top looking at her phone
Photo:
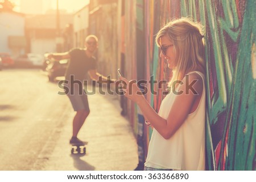
[[[156,44],[173,71],[171,91],[156,113],[137,84],[125,81],[125,96],[135,101],[154,127],[144,170],[205,170],[205,60],[199,23],[172,20]]]

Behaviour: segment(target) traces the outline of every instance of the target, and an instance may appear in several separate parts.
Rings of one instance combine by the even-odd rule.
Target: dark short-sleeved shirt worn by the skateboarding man
[[[97,67],[96,58],[88,57],[85,49],[71,49],[69,55],[71,58],[65,73],[65,78],[68,81],[71,75],[74,75],[75,80],[83,81],[88,71]]]

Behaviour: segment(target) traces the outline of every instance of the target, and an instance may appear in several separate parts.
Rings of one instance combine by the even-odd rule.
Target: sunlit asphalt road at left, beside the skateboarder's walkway
[[[39,69],[2,70],[0,77],[0,170],[31,170],[71,108]]]

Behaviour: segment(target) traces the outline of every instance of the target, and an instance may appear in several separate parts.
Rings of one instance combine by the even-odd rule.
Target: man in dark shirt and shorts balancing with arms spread
[[[73,136],[69,141],[71,145],[83,145],[86,143],[77,138],[77,134],[90,113],[87,95],[83,87],[81,88],[82,84],[84,84],[86,74],[89,73],[90,78],[96,81],[99,81],[100,77],[102,77],[101,80],[103,81],[108,80],[108,78],[97,73],[97,62],[96,58],[93,57],[93,53],[97,48],[98,38],[94,35],[89,35],[85,39],[85,49],[75,48],[69,52],[51,53],[48,55],[48,59],[53,58],[57,61],[69,59],[65,73],[65,81],[68,81],[67,87],[69,88],[69,92],[66,92],[66,94],[71,101],[74,111],[76,111],[76,115],[73,118]],[[114,81],[108,80],[108,82],[113,83]]]

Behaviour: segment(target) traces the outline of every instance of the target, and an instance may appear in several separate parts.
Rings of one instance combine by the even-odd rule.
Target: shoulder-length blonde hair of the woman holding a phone
[[[162,36],[167,36],[174,44],[176,53],[175,69],[172,70],[170,84],[178,79],[183,79],[185,74],[196,67],[205,70],[204,43],[202,26],[189,18],[174,19],[160,29],[155,41],[160,46]]]

